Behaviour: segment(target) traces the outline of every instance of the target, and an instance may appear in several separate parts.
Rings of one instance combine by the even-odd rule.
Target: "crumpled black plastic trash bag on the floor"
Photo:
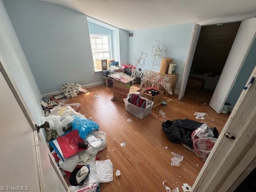
[[[191,134],[201,125],[202,123],[189,119],[174,119],[164,121],[162,128],[171,142],[183,143],[193,148]]]

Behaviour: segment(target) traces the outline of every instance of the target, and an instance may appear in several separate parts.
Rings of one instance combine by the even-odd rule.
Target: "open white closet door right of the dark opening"
[[[236,82],[236,77],[244,64],[255,36],[256,18],[243,20],[209,104],[217,113],[221,112],[228,94]]]

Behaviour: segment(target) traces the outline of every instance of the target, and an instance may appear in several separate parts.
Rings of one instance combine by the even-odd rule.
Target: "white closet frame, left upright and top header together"
[[[232,17],[226,17],[226,18],[219,18],[219,19],[211,19],[211,20],[205,20],[205,21],[199,21],[196,22],[193,28],[191,40],[190,40],[190,46],[188,48],[188,54],[186,58],[186,62],[183,64],[183,74],[182,74],[182,82],[180,85],[180,91],[179,91],[179,96],[178,100],[181,100],[185,94],[186,86],[188,83],[188,76],[189,72],[191,70],[192,62],[194,59],[194,53],[196,50],[196,46],[198,43],[198,38],[200,34],[201,28],[196,28],[196,24],[200,26],[207,26],[207,25],[214,25],[214,24],[220,24],[220,23],[230,23],[230,22],[238,22],[250,18],[254,18],[256,14],[246,14],[246,15],[240,15],[240,16],[232,16]],[[198,32],[199,30],[199,32]]]

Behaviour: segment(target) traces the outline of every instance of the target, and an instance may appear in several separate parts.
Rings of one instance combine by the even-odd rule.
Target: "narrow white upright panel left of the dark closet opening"
[[[184,69],[183,69],[183,74],[182,74],[182,83],[180,86],[180,93],[179,93],[179,97],[178,100],[181,100],[182,97],[184,97],[185,94],[185,90],[186,90],[186,86],[187,86],[187,82],[188,82],[188,76],[190,73],[190,68],[192,65],[192,61],[194,58],[194,54],[196,51],[196,45],[197,45],[197,41],[198,41],[198,37],[200,34],[200,30],[201,30],[201,26],[199,24],[195,24],[194,25],[194,29],[192,32],[192,36],[191,36],[191,41],[190,41],[190,45],[188,48],[188,55],[186,58],[186,64],[184,65]]]

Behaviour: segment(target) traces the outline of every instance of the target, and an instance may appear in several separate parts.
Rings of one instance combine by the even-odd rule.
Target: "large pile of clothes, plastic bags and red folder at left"
[[[96,122],[86,119],[71,106],[56,106],[50,115],[41,118],[47,121],[46,138],[52,147],[52,156],[63,175],[67,175],[72,192],[99,190],[100,183],[113,180],[113,165],[110,160],[99,160],[98,152],[106,148],[106,133],[99,131]],[[48,132],[56,132],[54,138]]]

